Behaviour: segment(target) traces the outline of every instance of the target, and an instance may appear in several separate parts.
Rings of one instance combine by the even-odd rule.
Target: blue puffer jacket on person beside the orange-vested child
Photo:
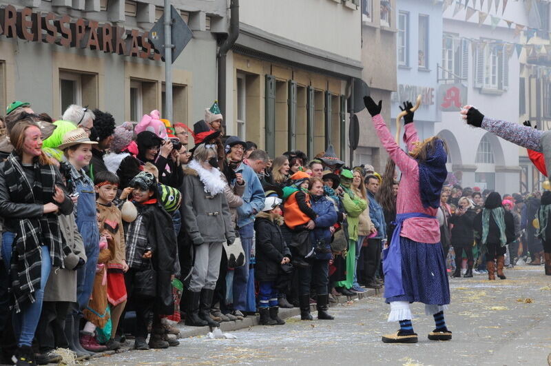
[[[325,248],[327,253],[315,253],[315,258],[319,261],[329,261],[331,259],[331,231],[329,228],[337,223],[337,211],[333,202],[326,196],[311,196],[312,210],[318,217],[315,218],[315,227],[310,234],[310,242],[313,247],[318,246],[318,242]]]

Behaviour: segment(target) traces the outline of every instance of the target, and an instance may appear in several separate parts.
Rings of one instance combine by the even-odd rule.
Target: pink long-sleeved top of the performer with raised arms
[[[406,214],[419,212],[436,217],[438,209],[423,207],[419,194],[419,163],[413,159],[407,152],[400,149],[394,141],[391,132],[386,127],[384,119],[380,114],[373,117],[375,132],[386,152],[399,167],[402,172],[398,196],[396,201],[396,213]],[[419,141],[417,130],[413,123],[408,123],[404,127],[404,142],[408,146],[408,151],[413,150],[413,143]],[[437,218],[409,218],[402,224],[400,236],[410,238],[419,243],[439,243],[440,227]]]

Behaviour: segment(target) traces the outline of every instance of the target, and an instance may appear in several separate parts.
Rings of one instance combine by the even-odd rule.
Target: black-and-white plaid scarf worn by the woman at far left
[[[10,154],[3,167],[10,201],[23,204],[54,202],[56,171],[53,165],[34,163],[34,182],[27,179],[19,156]],[[15,228],[15,239],[10,263],[10,292],[14,309],[21,311],[24,303],[34,303],[34,292],[40,288],[42,251],[48,246],[52,267],[64,268],[63,258],[70,253],[65,244],[56,214],[40,218],[7,218]]]

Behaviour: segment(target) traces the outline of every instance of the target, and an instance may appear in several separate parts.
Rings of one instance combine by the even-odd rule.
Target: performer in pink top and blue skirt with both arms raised
[[[391,305],[388,321],[399,321],[395,334],[382,337],[384,343],[417,343],[411,324],[410,303],[425,304],[425,313],[435,318],[436,329],[430,340],[450,340],[452,333],[444,321],[444,309],[450,303],[444,250],[436,218],[440,192],[446,176],[447,152],[444,141],[434,136],[422,143],[413,125],[411,104],[405,105],[405,136],[410,154],[394,141],[381,116],[382,101],[364,97],[373,117],[375,132],[384,148],[402,172],[393,238],[383,252],[384,297]],[[412,151],[413,150],[413,151]]]

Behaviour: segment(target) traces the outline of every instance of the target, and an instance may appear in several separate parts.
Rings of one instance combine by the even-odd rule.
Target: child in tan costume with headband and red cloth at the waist
[[[98,172],[94,178],[94,189],[98,194],[96,209],[99,215],[99,227],[113,238],[113,253],[107,262],[107,301],[111,313],[111,334],[106,343],[107,349],[118,349],[121,345],[114,339],[118,321],[126,305],[126,286],[124,273],[126,263],[125,233],[121,210],[113,203],[116,199],[119,179],[112,172]]]

